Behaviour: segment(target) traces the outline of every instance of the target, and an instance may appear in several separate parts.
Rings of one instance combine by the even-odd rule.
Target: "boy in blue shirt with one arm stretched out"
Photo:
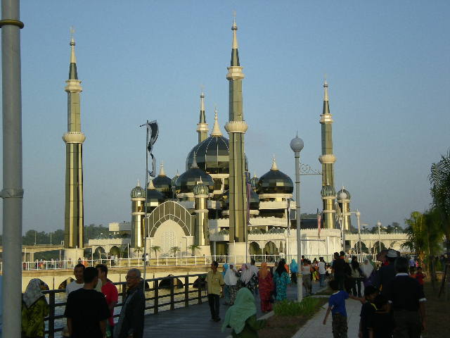
[[[335,292],[328,300],[328,309],[325,318],[323,318],[323,325],[326,325],[328,315],[333,318],[331,326],[333,327],[333,338],[347,338],[347,311],[345,309],[345,299],[356,299],[358,297],[347,294],[347,292],[339,289],[337,280],[330,281],[330,288]]]

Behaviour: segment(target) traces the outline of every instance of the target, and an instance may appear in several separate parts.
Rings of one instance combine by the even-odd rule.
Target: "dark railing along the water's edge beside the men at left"
[[[198,304],[203,303],[203,299],[207,297],[207,294],[205,290],[205,284],[201,281],[202,279],[200,277],[205,276],[206,274],[200,273],[195,275],[167,276],[146,280],[146,285],[148,284],[149,286],[153,282],[153,287],[146,287],[146,292],[153,292],[153,296],[146,298],[145,310],[152,310],[151,312],[153,314],[158,314],[160,308],[162,307],[167,307],[168,310],[174,310],[176,304],[182,304],[181,307],[186,307],[189,306],[190,302],[192,301],[195,301],[195,303]],[[199,282],[196,284],[196,286],[194,286],[195,282],[189,282],[190,277],[198,277],[196,281]],[[175,288],[179,287],[178,280],[183,283],[183,291],[181,292],[175,292]],[[160,287],[160,283],[163,281],[168,282],[168,288]],[[122,296],[121,302],[117,303],[116,306],[122,306],[127,291],[127,282],[115,282],[113,284],[117,286],[117,289]],[[168,292],[160,294],[161,289],[168,290]],[[65,306],[66,304],[65,301],[56,303],[56,294],[65,293],[65,289],[48,290],[43,291],[43,293],[49,295],[49,316],[44,319],[44,321],[48,322],[48,328],[44,333],[48,334],[49,338],[54,338],[56,332],[63,331],[63,326],[55,327],[55,321],[64,318],[63,314],[56,313],[56,308]],[[195,296],[191,297],[191,294],[195,294]],[[162,302],[160,301],[161,299],[163,299]],[[119,317],[119,315],[120,314],[115,314],[113,317],[116,318]]]

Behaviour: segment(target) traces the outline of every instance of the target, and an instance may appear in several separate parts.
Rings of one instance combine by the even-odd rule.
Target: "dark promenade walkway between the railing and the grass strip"
[[[313,292],[319,289],[319,282],[313,283]],[[288,299],[295,299],[297,296],[297,287],[288,287]],[[257,317],[262,315],[261,306],[259,305],[259,296],[255,296],[257,305]],[[221,299],[220,316],[225,317],[226,310],[229,306],[223,305],[224,300]],[[221,332],[223,321],[219,323],[210,321],[210,306],[207,300],[202,304],[188,306],[187,308],[177,308],[174,311],[163,311],[158,315],[147,315],[144,322],[144,337],[148,338],[190,338],[190,337],[228,337],[231,330]],[[331,332],[331,331],[330,331]],[[323,336],[325,337],[325,336]],[[330,337],[329,335],[326,337]],[[349,336],[352,337],[352,336]],[[355,336],[357,337],[357,336]]]

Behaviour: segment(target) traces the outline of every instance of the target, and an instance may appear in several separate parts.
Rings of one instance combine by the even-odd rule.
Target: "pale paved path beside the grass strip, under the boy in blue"
[[[349,338],[357,338],[359,331],[359,313],[361,312],[361,302],[354,301],[353,299],[347,299],[345,301],[345,306],[347,307],[347,323],[348,323],[348,333]],[[323,318],[325,317],[326,308],[328,304],[323,306],[323,309],[316,313],[313,318],[308,320],[308,322],[300,329],[293,338],[329,338],[333,337],[331,332],[331,314],[328,316],[326,325],[323,325]]]

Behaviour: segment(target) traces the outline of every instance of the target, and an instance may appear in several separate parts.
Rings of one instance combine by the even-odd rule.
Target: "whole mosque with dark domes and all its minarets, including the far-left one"
[[[202,92],[196,125],[198,143],[186,149],[184,173],[168,177],[161,163],[159,175],[148,180],[147,187],[138,183],[131,189],[131,222],[111,223],[115,230],[129,236],[108,239],[105,243],[89,240],[93,249],[101,246],[108,252],[114,246],[125,245],[129,247],[129,256],[139,257],[145,247],[150,257],[164,257],[174,256],[174,248],[178,248],[182,256],[226,255],[239,262],[249,254],[297,254],[296,228],[299,224],[295,218],[293,180],[283,173],[283,168],[278,168],[275,158],[271,168],[261,177],[251,177],[249,172],[244,142],[248,129],[243,115],[242,81],[245,75],[239,60],[236,21],[231,30],[231,64],[226,74],[229,122],[224,131],[219,126],[217,110],[210,131]],[[67,149],[65,258],[76,259],[79,256],[77,250],[84,247],[82,143],[85,137],[79,108],[82,87],[77,77],[73,37],[70,46],[70,76],[65,87],[68,92],[68,132],[63,136]],[[321,217],[300,222],[302,254],[317,257],[340,251],[345,242],[344,233],[351,227],[351,196],[344,188],[335,191],[333,116],[326,81],[323,90],[323,110],[319,117],[322,181],[318,187],[323,210]],[[354,235],[349,234],[351,236]],[[355,241],[357,239],[348,241],[350,247]],[[375,239],[368,241],[369,249],[373,249]],[[158,248],[159,252],[153,248]]]

